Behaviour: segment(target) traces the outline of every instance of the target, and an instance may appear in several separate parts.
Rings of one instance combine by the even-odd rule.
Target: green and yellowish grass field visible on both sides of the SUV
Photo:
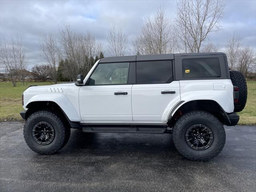
[[[50,82],[29,82],[23,86],[17,82],[16,87],[12,87],[11,82],[0,82],[0,121],[22,120],[20,111],[23,110],[21,94],[29,85],[49,85]],[[240,125],[256,125],[256,81],[247,81],[248,98],[245,109],[239,112]]]

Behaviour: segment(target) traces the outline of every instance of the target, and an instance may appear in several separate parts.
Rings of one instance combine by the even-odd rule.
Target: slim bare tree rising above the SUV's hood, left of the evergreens
[[[57,83],[57,67],[60,59],[60,52],[56,40],[52,34],[45,35],[40,41],[41,56],[49,63],[52,68],[54,83]]]

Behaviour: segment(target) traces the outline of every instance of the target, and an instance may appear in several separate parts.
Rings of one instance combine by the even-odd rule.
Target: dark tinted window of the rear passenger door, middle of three
[[[156,84],[172,82],[172,61],[136,63],[136,83]]]

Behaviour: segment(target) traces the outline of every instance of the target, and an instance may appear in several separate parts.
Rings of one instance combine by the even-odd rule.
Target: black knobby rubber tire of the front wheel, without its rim
[[[47,122],[54,128],[54,139],[47,145],[38,144],[33,136],[32,129],[38,122]],[[31,114],[24,125],[23,135],[28,147],[38,154],[54,154],[60,150],[68,141],[68,129],[65,128],[62,120],[53,112],[41,110]]]

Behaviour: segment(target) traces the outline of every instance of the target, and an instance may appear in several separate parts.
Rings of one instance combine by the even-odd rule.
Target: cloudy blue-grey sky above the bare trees
[[[57,36],[59,27],[69,24],[73,30],[92,32],[106,52],[107,32],[113,23],[124,30],[131,44],[143,19],[159,6],[164,6],[174,21],[175,5],[176,1],[0,0],[0,36],[6,40],[22,36],[30,69],[45,62],[38,51],[38,40],[49,32]],[[212,43],[224,48],[227,34],[239,32],[245,46],[256,48],[256,0],[227,0],[220,24],[222,30],[210,34]]]

